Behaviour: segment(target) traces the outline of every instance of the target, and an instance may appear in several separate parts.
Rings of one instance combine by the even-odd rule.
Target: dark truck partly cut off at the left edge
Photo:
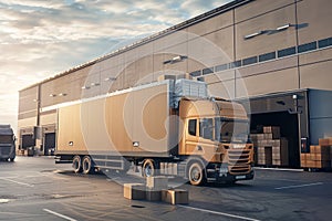
[[[0,125],[0,160],[14,161],[15,136],[10,125]]]

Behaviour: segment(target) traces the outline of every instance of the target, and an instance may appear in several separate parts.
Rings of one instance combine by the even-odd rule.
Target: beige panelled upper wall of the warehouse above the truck
[[[50,106],[155,82],[163,74],[190,73],[224,98],[332,91],[331,8],[330,0],[255,0],[70,70],[40,83],[40,95],[38,85],[20,92],[19,128],[38,120],[55,124]],[[177,55],[187,57],[164,63]],[[40,101],[40,119],[33,101]]]

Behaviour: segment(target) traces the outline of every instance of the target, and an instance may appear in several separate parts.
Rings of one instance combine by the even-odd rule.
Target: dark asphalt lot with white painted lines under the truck
[[[122,182],[52,157],[0,162],[0,220],[332,220],[332,173],[256,169],[252,181],[180,188],[189,204],[127,200]],[[170,180],[172,182],[172,180]]]

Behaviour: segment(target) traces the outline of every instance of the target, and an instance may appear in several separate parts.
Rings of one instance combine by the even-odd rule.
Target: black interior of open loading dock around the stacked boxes
[[[257,126],[279,126],[281,137],[288,139],[289,167],[300,168],[298,115],[288,112],[252,114],[251,131],[255,131]]]

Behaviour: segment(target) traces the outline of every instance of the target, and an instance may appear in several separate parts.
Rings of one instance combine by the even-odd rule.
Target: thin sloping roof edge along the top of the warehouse
[[[40,84],[50,82],[50,81],[59,78],[61,76],[65,76],[65,75],[71,74],[71,73],[73,73],[75,71],[82,70],[82,69],[84,69],[86,66],[91,66],[91,65],[93,65],[93,64],[95,64],[97,62],[102,62],[102,61],[107,60],[107,59],[110,59],[112,56],[122,54],[122,53],[124,53],[126,51],[129,51],[129,50],[135,49],[137,46],[144,45],[144,44],[149,43],[152,41],[155,41],[155,40],[157,40],[159,38],[163,38],[163,36],[166,36],[168,34],[172,34],[172,33],[174,33],[176,31],[186,29],[186,28],[188,28],[188,27],[190,27],[190,25],[193,25],[193,24],[195,24],[197,22],[205,21],[207,19],[210,19],[212,17],[216,17],[218,14],[221,14],[221,13],[226,12],[226,11],[229,11],[229,10],[232,10],[232,9],[238,8],[240,6],[243,6],[246,3],[249,3],[251,1],[255,1],[255,0],[234,0],[234,1],[229,2],[229,3],[222,4],[221,7],[212,9],[212,10],[210,10],[208,12],[205,12],[203,14],[194,17],[194,18],[191,18],[189,20],[186,20],[186,21],[184,21],[181,23],[175,24],[175,25],[173,25],[173,27],[170,27],[168,29],[165,29],[165,30],[163,30],[160,32],[157,32],[155,34],[146,36],[146,38],[144,38],[142,40],[138,40],[137,42],[134,42],[134,43],[132,43],[129,45],[126,45],[126,46],[123,46],[121,49],[117,49],[117,50],[115,50],[115,51],[113,51],[113,52],[111,52],[108,54],[102,55],[102,56],[96,57],[96,59],[94,59],[92,61],[89,61],[86,63],[83,63],[83,64],[80,64],[77,66],[74,66],[74,67],[72,67],[70,70],[66,70],[64,72],[61,72],[59,74],[55,74],[54,76],[51,76],[51,77],[45,78],[45,80],[43,80],[43,81],[41,81],[39,83],[32,84],[32,85],[30,85],[28,87],[24,87],[24,88],[20,90],[19,92],[22,92],[22,91],[35,87],[35,86],[38,86]]]

